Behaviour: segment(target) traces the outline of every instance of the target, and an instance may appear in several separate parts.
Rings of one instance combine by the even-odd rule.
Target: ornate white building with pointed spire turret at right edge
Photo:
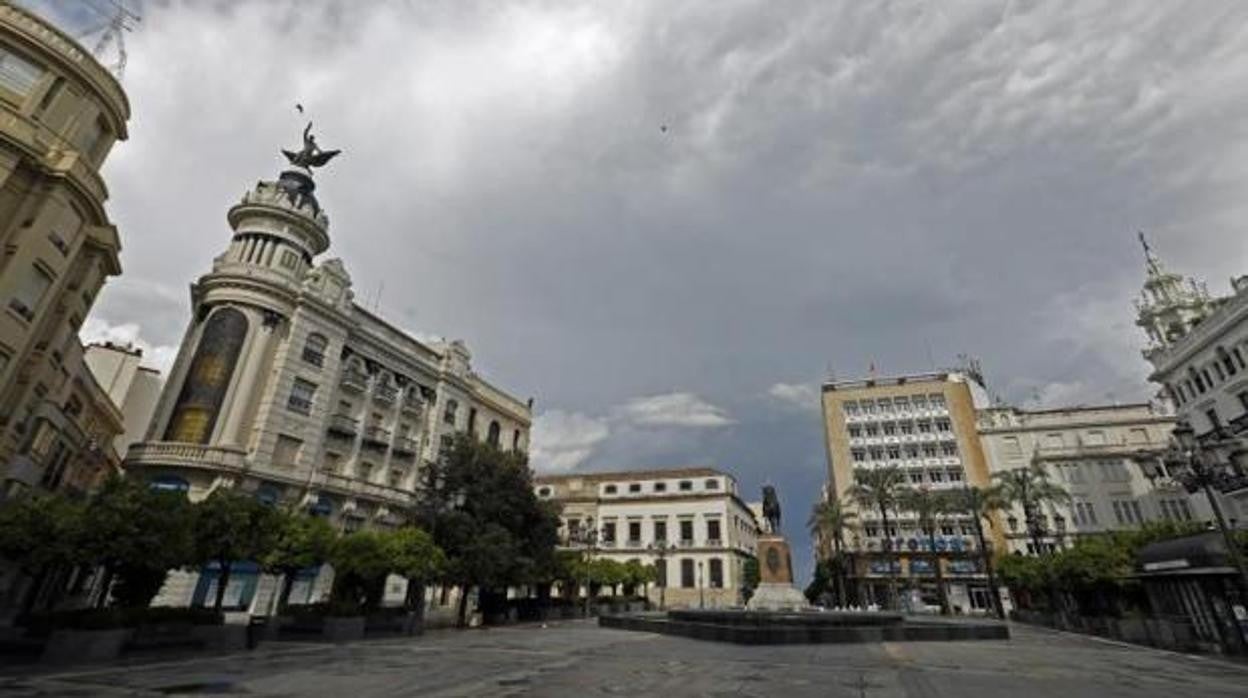
[[[1174,273],[1144,245],[1146,278],[1136,323],[1148,337],[1149,380],[1161,385],[1178,418],[1216,448],[1233,473],[1221,493],[1227,518],[1248,522],[1248,276],[1231,295]]]

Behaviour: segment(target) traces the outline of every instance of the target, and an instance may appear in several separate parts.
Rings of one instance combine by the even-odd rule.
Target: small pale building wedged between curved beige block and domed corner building
[[[142,360],[142,350],[132,346],[104,342],[86,347],[86,365],[91,375],[121,410],[124,431],[112,446],[122,455],[147,432],[163,385],[160,371],[144,366]]]

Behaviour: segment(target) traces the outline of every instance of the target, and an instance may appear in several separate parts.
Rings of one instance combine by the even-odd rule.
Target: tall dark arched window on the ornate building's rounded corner
[[[207,443],[247,338],[247,316],[225,307],[212,313],[195,348],[165,441]]]

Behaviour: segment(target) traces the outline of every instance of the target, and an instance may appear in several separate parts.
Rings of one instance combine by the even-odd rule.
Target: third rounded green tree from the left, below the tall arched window
[[[263,562],[273,551],[281,514],[250,494],[217,489],[195,504],[195,561],[217,564],[217,593],[212,607],[221,609],[235,562]]]

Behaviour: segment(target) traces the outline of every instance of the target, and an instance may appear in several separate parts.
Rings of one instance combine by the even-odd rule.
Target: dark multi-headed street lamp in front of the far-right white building
[[[1214,437],[1221,436],[1221,430],[1214,430],[1212,435]],[[1202,443],[1201,438],[1196,436],[1192,425],[1186,420],[1174,426],[1172,437],[1174,442],[1166,456],[1163,456],[1169,474],[1189,494],[1204,491],[1209,508],[1213,509],[1213,518],[1217,521],[1218,529],[1222,532],[1222,538],[1226,542],[1227,557],[1231,558],[1231,563],[1239,572],[1239,586],[1243,594],[1248,597],[1248,567],[1244,566],[1239,546],[1236,544],[1234,534],[1231,532],[1231,527],[1227,526],[1227,518],[1222,513],[1222,504],[1218,503],[1218,497],[1213,492],[1214,489],[1218,492],[1231,492],[1248,487],[1248,476],[1238,472],[1229,462],[1219,458],[1218,443]],[[1152,469],[1153,474],[1149,479],[1161,474],[1157,472],[1159,466],[1156,462],[1141,463],[1141,467],[1144,469],[1146,477],[1148,477],[1149,469]]]

